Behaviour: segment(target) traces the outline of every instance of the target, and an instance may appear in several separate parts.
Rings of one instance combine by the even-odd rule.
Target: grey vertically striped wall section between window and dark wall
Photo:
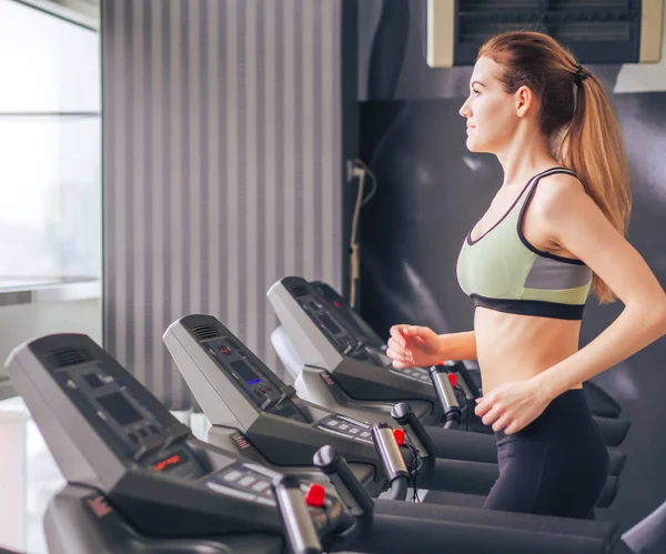
[[[342,0],[104,0],[104,340],[170,407],[161,336],[219,318],[269,365],[268,288],[340,288]]]

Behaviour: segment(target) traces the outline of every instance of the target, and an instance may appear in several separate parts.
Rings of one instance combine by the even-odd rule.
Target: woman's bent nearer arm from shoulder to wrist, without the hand
[[[542,204],[539,220],[562,248],[583,260],[625,304],[594,341],[541,373],[552,397],[626,360],[666,333],[666,294],[640,254],[579,187]]]

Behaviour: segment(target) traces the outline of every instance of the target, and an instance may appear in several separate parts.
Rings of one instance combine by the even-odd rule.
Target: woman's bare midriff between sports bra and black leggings
[[[533,377],[578,350],[581,321],[517,315],[476,308],[476,355],[483,393]],[[581,387],[578,384],[576,387]]]

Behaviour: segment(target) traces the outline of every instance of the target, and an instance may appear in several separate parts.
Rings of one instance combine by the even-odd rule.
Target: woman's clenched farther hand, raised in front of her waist
[[[442,359],[440,335],[430,328],[393,325],[386,355],[396,370],[433,365]]]

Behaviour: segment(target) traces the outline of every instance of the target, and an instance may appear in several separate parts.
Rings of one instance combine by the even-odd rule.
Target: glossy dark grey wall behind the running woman
[[[379,192],[363,211],[361,311],[384,336],[398,322],[437,332],[472,329],[473,305],[460,290],[455,263],[466,232],[502,183],[496,159],[465,147],[458,109],[472,69],[434,71],[425,64],[423,4],[373,0],[360,11],[361,157],[379,180]],[[591,69],[612,91],[620,68]],[[635,193],[628,240],[666,285],[666,93],[612,94],[612,100]],[[620,310],[619,302],[598,306],[592,300],[582,344]],[[599,513],[623,528],[666,498],[665,362],[662,339],[595,379],[633,425],[622,446],[628,461],[620,491]]]

